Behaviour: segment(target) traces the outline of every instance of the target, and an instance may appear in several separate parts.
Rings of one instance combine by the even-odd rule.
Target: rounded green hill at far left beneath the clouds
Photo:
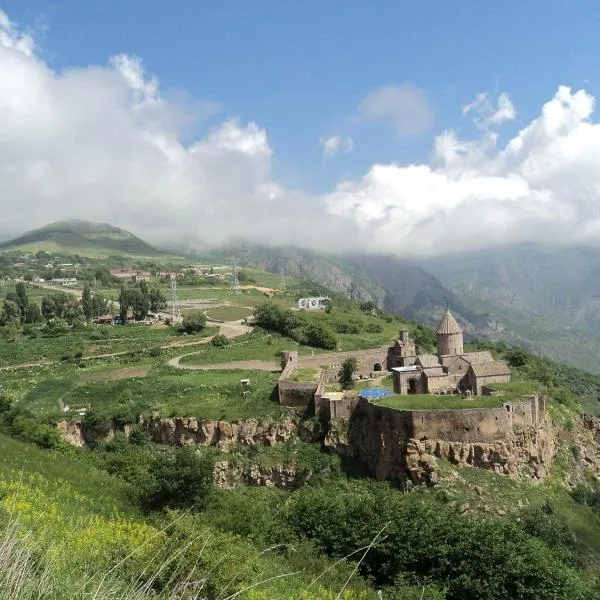
[[[0,243],[0,252],[46,251],[82,256],[157,256],[158,250],[131,232],[108,223],[65,220]]]

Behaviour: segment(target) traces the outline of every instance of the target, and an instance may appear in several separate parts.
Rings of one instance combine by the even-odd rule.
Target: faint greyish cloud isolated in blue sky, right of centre
[[[425,92],[412,83],[391,84],[366,96],[359,118],[389,123],[399,137],[416,136],[433,125],[434,111]]]

